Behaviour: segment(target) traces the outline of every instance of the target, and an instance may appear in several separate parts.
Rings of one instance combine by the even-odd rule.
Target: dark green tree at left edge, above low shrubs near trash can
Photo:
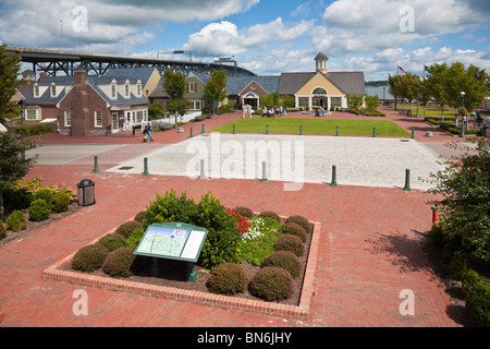
[[[20,134],[0,132],[0,217],[3,217],[3,191],[27,174],[37,155],[25,157],[25,152],[37,147],[30,140],[21,142]]]

